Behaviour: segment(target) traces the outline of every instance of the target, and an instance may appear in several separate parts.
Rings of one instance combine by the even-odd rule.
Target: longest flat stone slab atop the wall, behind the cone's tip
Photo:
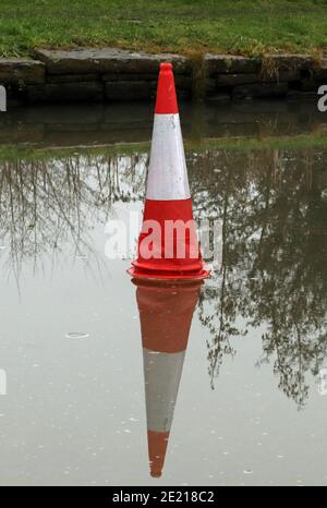
[[[172,53],[150,55],[117,48],[35,51],[50,74],[158,73],[159,63],[170,61],[174,72],[191,73],[190,59]]]

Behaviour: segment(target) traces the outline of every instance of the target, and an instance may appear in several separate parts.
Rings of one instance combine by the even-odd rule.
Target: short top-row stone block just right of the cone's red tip
[[[207,75],[256,73],[261,70],[261,61],[254,58],[238,57],[232,55],[211,55],[204,57],[204,69]]]

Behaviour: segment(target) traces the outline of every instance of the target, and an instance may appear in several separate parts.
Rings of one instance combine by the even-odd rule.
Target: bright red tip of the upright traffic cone
[[[179,112],[171,63],[160,63],[155,112],[156,114]]]

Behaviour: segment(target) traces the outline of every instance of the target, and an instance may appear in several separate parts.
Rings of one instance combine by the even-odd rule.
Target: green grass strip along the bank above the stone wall
[[[35,47],[263,55],[327,48],[327,0],[1,0],[0,55]]]

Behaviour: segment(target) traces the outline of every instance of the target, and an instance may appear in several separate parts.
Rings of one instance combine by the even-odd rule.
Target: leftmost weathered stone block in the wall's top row
[[[45,64],[21,58],[0,59],[0,84],[26,85],[45,82]]]

